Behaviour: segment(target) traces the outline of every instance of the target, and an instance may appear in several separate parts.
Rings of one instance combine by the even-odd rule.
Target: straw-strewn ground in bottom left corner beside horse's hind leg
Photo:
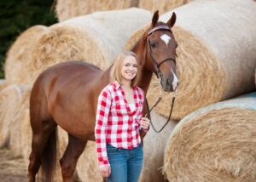
[[[26,165],[21,156],[17,156],[8,149],[0,150],[0,181],[25,182]]]

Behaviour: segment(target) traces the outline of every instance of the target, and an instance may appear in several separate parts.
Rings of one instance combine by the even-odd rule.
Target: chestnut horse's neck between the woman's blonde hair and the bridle
[[[145,94],[148,92],[148,87],[152,78],[152,71],[148,69],[147,63],[149,62],[146,50],[146,40],[143,38],[131,49],[135,54],[137,54],[137,60],[141,64],[141,77],[138,82],[138,87],[143,88]]]

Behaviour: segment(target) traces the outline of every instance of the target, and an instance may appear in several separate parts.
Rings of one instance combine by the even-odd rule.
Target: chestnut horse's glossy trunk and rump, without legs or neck
[[[70,134],[87,137],[82,134],[84,128],[94,127],[91,122],[95,121],[97,95],[102,88],[97,84],[102,84],[101,77],[102,71],[89,63],[68,61],[53,65],[33,85],[31,110],[40,108],[38,111],[44,111]]]

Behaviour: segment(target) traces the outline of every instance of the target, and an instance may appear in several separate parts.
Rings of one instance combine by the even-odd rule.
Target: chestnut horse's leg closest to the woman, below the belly
[[[63,182],[73,181],[73,173],[86,143],[87,140],[82,140],[68,134],[67,148],[60,161]]]

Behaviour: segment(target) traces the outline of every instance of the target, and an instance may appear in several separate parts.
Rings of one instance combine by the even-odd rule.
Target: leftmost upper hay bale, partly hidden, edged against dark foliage
[[[9,48],[5,60],[4,72],[8,82],[28,83],[32,48],[46,30],[46,26],[32,26],[17,37],[15,43]]]

